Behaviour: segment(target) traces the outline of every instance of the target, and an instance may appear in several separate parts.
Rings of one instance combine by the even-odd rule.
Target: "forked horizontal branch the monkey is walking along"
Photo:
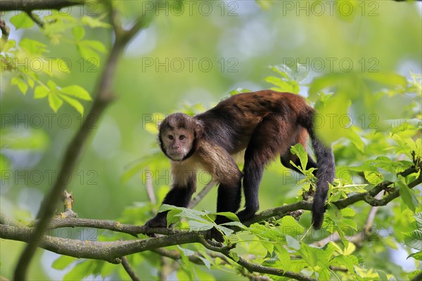
[[[419,169],[417,171],[419,171]],[[409,188],[414,188],[416,185],[421,183],[422,175],[419,175],[418,178],[409,183],[408,186]],[[351,195],[350,197],[347,197],[345,199],[332,202],[332,204],[339,207],[339,209],[343,209],[349,206],[350,204],[354,204],[358,201],[365,201],[371,204],[372,206],[382,206],[388,204],[388,202],[394,200],[397,196],[399,196],[398,188],[388,188],[391,184],[392,183],[388,181],[380,183],[367,192],[359,193],[357,195]],[[390,195],[387,195],[383,199],[378,199],[378,196],[381,195],[378,195],[377,197],[376,195],[382,190],[393,191],[392,193],[390,193]],[[286,214],[289,214],[289,212],[291,211],[298,211],[299,209],[309,210],[310,207],[311,202],[301,201],[274,209],[268,209],[262,211],[260,214],[257,214],[254,218],[252,218],[245,224],[254,223],[262,219],[267,219],[271,217],[280,218],[282,216],[286,216]],[[370,218],[370,216],[368,218],[368,221],[369,223],[371,223],[372,221],[372,218]],[[292,273],[289,271],[280,270],[278,268],[269,268],[266,266],[260,266],[259,264],[250,263],[249,261],[246,261],[241,257],[239,257],[239,259],[234,259],[231,256],[230,247],[221,247],[221,244],[219,243],[205,240],[205,235],[207,233],[206,231],[189,232],[172,228],[146,228],[145,226],[124,225],[114,221],[89,220],[83,218],[54,218],[49,224],[49,226],[46,227],[46,229],[51,229],[67,226],[85,226],[109,229],[122,233],[129,233],[131,235],[136,235],[138,233],[158,233],[168,235],[166,237],[155,237],[146,240],[96,242],[51,237],[44,235],[44,233],[38,235],[37,229],[39,228],[39,222],[30,224],[30,226],[34,227],[27,227],[22,223],[15,223],[15,221],[7,218],[7,216],[4,214],[1,214],[0,216],[0,223],[1,238],[18,240],[27,243],[30,243],[33,240],[37,240],[40,243],[39,247],[48,249],[50,251],[54,251],[58,254],[64,254],[68,256],[75,256],[79,258],[82,257],[87,259],[101,259],[109,261],[110,263],[120,263],[120,257],[122,256],[134,254],[139,251],[154,250],[158,254],[163,254],[163,256],[169,256],[172,257],[172,259],[179,259],[179,256],[177,256],[177,254],[175,254],[174,252],[164,252],[162,250],[158,250],[158,248],[172,246],[176,244],[200,242],[207,249],[217,251],[223,254],[224,256],[226,256],[226,258],[235,261],[236,263],[250,270],[251,272],[253,271],[256,273],[286,276],[297,280],[313,280],[310,277],[300,275],[298,273]],[[196,261],[199,262],[198,259],[196,259]]]

